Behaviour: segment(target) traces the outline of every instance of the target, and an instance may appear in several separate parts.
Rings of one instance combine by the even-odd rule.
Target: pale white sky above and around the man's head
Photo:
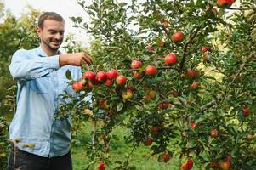
[[[0,0],[1,1],[1,0]],[[82,16],[84,20],[89,20],[88,15],[77,3],[77,0],[2,0],[5,9],[9,9],[16,17],[20,14],[26,13],[26,6],[31,5],[32,8],[41,11],[54,11],[60,14],[65,20],[65,35],[67,33],[74,33],[77,40],[84,42],[85,46],[88,45],[90,37],[78,28],[72,27],[72,21],[69,19],[71,16]],[[91,0],[86,0],[90,3]]]

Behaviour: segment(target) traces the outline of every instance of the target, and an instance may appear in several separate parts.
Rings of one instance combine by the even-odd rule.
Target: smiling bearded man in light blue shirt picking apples
[[[17,110],[9,127],[14,146],[10,151],[8,169],[70,170],[70,118],[56,119],[64,91],[74,93],[65,78],[71,71],[73,79],[81,77],[82,61],[90,65],[88,54],[60,54],[65,21],[54,12],[43,13],[38,20],[38,48],[18,50],[9,70],[18,84]]]

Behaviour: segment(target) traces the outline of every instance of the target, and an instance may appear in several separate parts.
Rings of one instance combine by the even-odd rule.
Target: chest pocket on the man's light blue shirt
[[[50,76],[46,75],[29,81],[29,87],[37,94],[48,94]]]

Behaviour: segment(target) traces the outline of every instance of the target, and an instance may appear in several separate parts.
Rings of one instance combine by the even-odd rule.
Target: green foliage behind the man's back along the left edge
[[[16,105],[16,85],[9,73],[9,61],[17,49],[35,48],[39,44],[34,28],[40,12],[31,7],[28,11],[17,19],[5,12],[4,4],[0,2],[0,167],[6,167],[9,151],[7,127]]]

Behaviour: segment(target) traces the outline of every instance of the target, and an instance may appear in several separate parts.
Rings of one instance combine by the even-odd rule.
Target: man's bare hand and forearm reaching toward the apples
[[[92,64],[93,59],[83,52],[74,53],[74,54],[60,54],[60,67],[64,65],[75,65],[82,66],[82,60],[85,61],[88,65]]]

